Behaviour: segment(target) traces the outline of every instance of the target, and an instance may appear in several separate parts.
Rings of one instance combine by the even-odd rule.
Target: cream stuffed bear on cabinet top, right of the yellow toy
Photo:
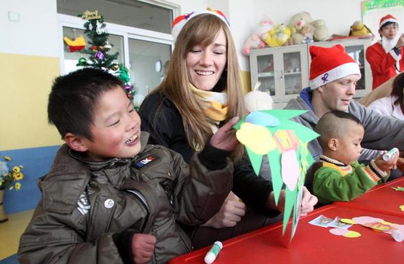
[[[311,38],[316,41],[323,41],[329,37],[329,31],[324,21],[322,19],[313,21],[309,12],[294,14],[288,26],[296,29],[296,33],[292,34],[294,44],[309,43]]]

